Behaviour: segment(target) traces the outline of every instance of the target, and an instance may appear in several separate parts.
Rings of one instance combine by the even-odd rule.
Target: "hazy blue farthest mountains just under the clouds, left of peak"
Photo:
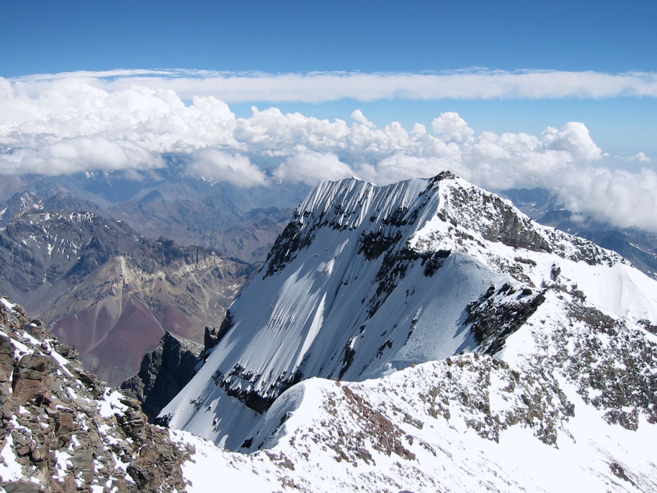
[[[134,175],[134,176],[133,176]],[[141,174],[14,177],[0,193],[0,227],[25,210],[95,212],[129,223],[147,238],[214,250],[244,262],[264,260],[307,193],[305,185],[238,189],[186,176],[175,166]]]

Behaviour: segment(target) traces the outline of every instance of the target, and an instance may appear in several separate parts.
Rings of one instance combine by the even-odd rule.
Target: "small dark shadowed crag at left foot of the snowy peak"
[[[202,346],[167,332],[155,350],[141,361],[141,369],[121,388],[131,390],[152,423],[162,408],[191,380],[201,358]]]

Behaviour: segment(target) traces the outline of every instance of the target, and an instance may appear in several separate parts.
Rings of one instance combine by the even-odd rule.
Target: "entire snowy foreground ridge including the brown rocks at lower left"
[[[564,310],[577,299],[545,296]],[[509,336],[511,363],[463,354],[361,383],[299,383],[263,415],[244,454],[145,423],[139,402],[104,387],[70,346],[2,298],[0,486],[196,493],[219,478],[254,493],[654,490],[657,469],[637,446],[656,435],[654,388],[643,394],[652,402],[637,390],[654,381],[657,337],[595,311],[564,327],[546,308]],[[609,335],[625,342],[604,344]],[[641,348],[643,364],[622,359]],[[596,368],[606,385],[589,385]],[[614,420],[614,406],[634,407],[637,421]]]

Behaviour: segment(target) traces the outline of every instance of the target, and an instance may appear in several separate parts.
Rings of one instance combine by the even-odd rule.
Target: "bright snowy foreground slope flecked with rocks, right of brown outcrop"
[[[657,337],[560,289],[545,297],[507,338],[510,362],[474,352],[361,383],[307,379],[265,412],[248,454],[171,431],[196,450],[188,490],[217,474],[250,492],[656,490]]]

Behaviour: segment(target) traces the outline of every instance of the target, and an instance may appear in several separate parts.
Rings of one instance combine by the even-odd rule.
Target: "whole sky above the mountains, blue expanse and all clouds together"
[[[1,174],[166,153],[238,186],[263,162],[307,183],[450,168],[657,231],[654,1],[0,7]]]

